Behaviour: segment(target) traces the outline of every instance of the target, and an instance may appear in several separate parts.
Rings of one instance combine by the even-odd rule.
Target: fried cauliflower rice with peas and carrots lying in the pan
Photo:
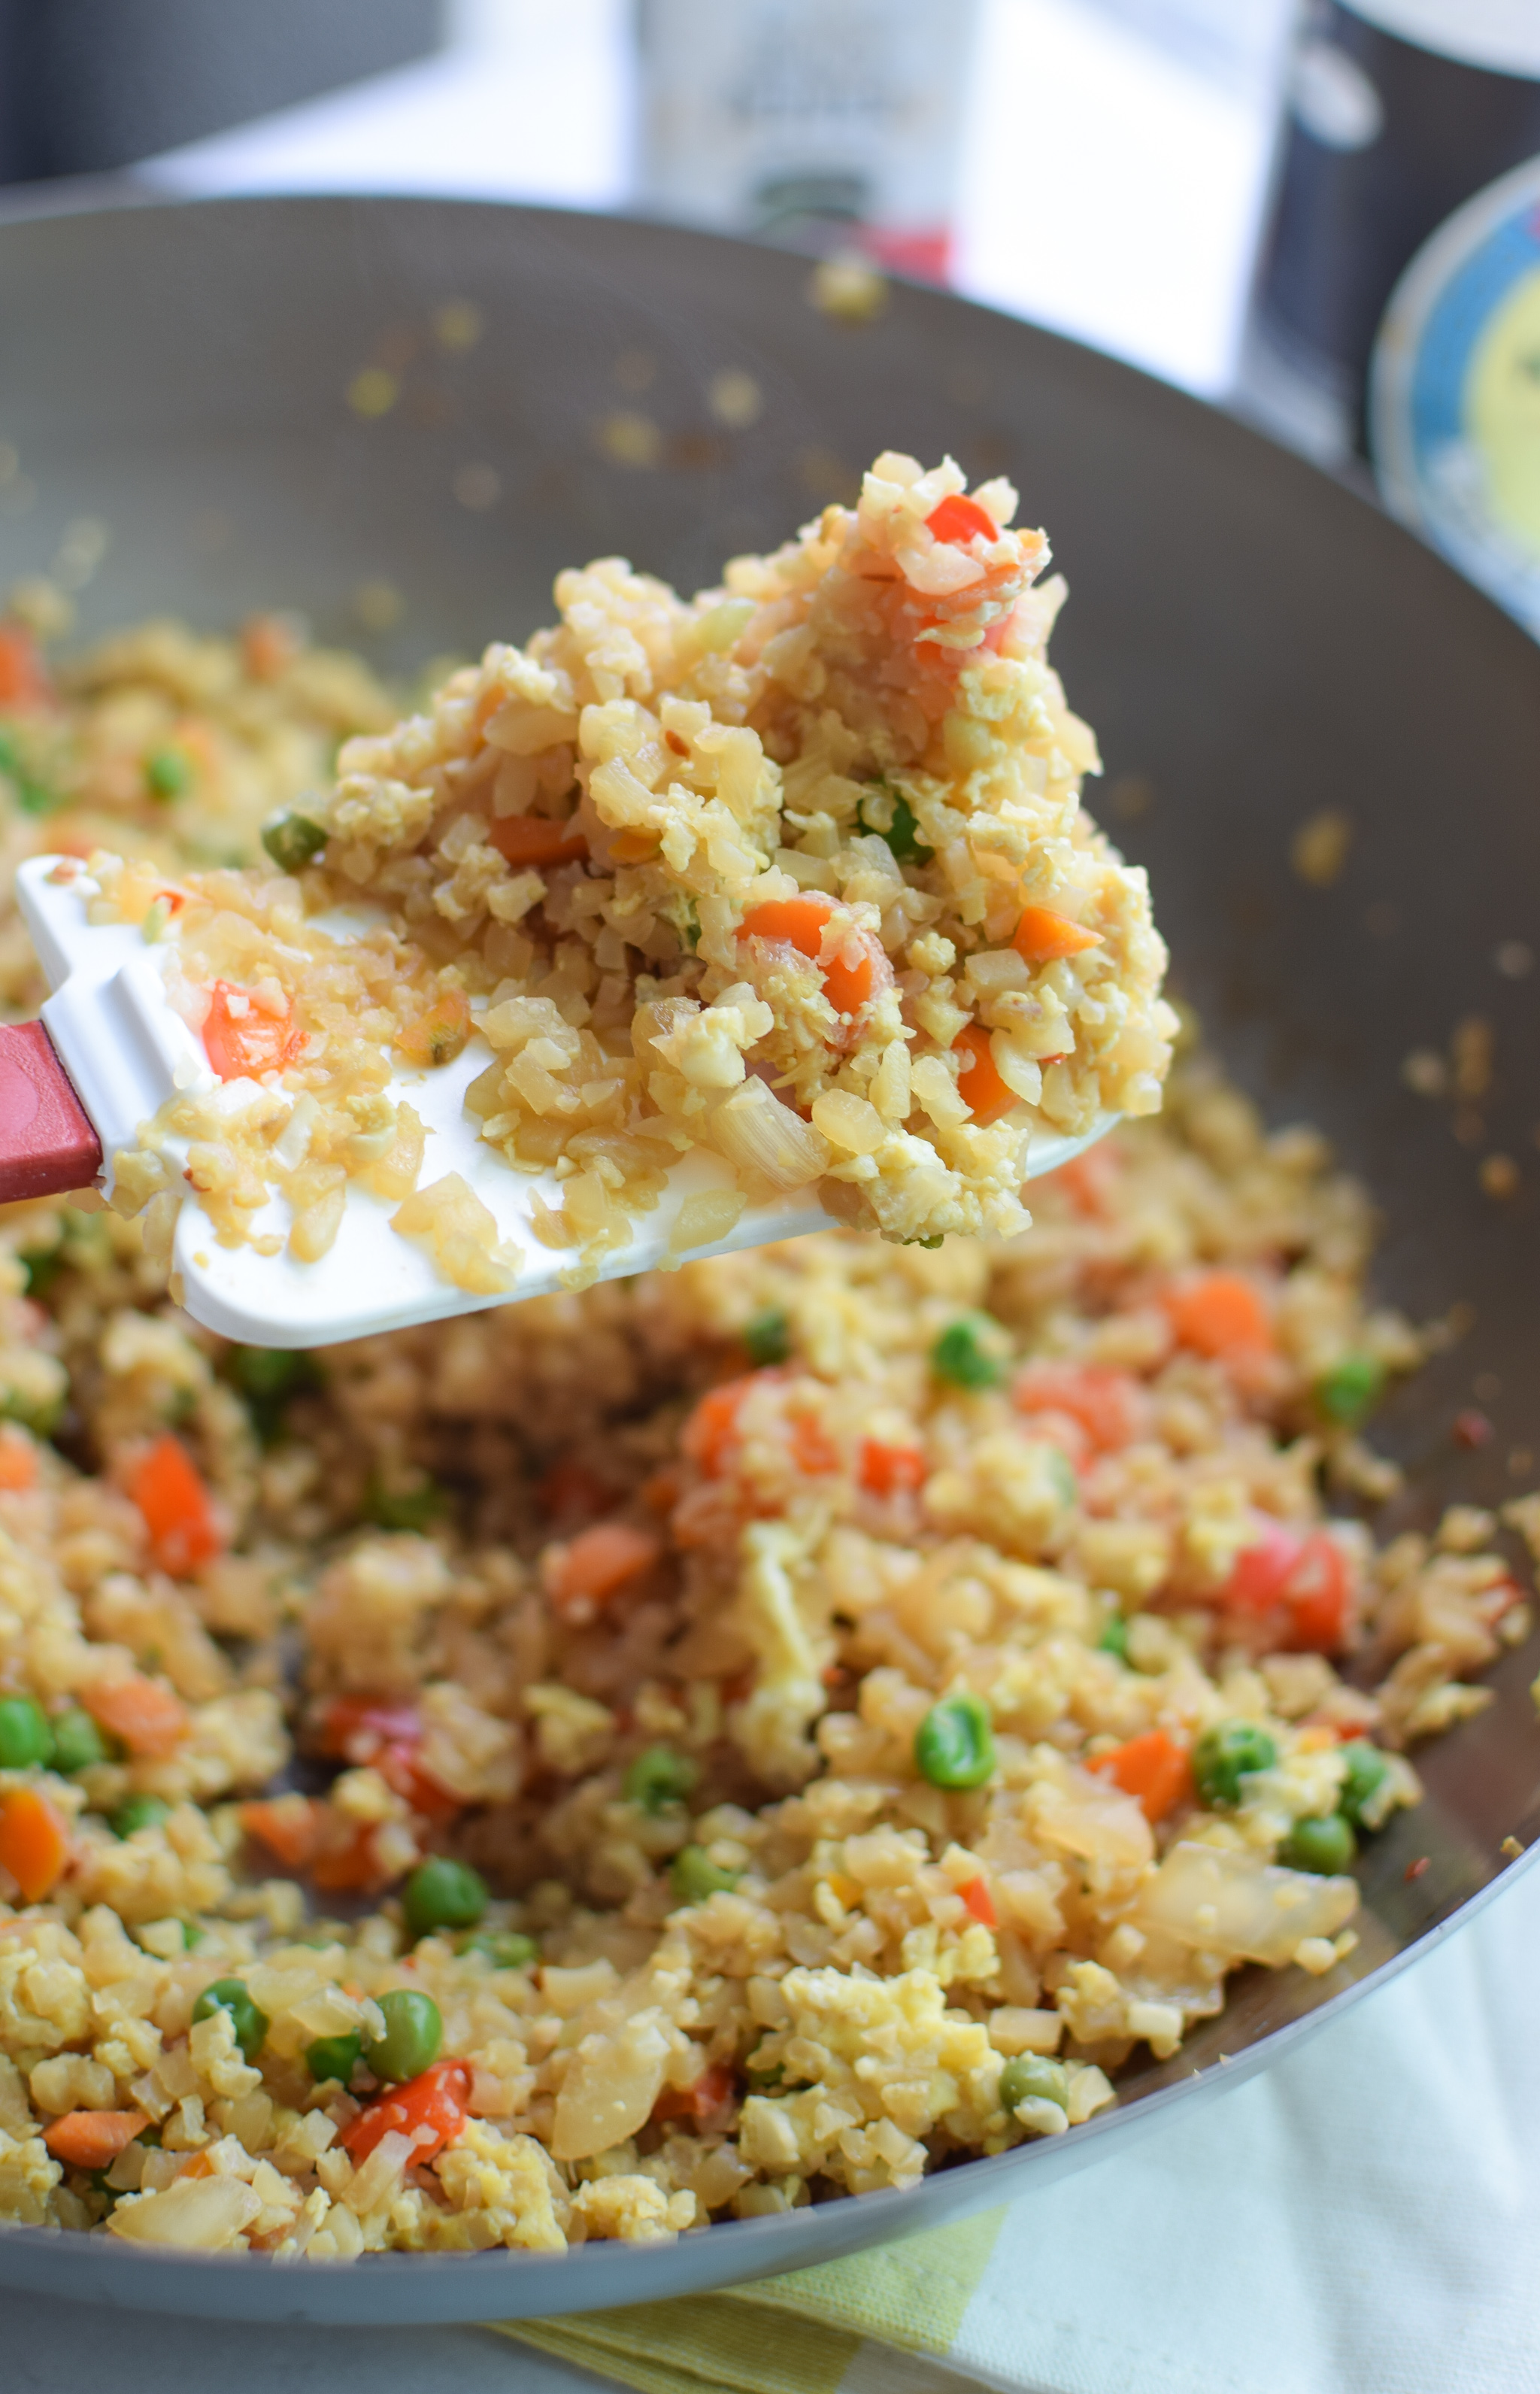
[[[24,689],[7,639],[12,857],[184,871],[216,773],[249,852],[390,713],[273,627]],[[1231,1970],[1329,1970],[1526,1633],[1497,1523],[1356,1518],[1423,1341],[1315,1135],[1188,1058],[1035,1216],[295,1357],[141,1219],[2,1211],[0,2219],[659,2241],[1063,2133]]]

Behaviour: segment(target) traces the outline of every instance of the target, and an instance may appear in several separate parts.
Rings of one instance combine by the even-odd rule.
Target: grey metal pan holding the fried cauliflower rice
[[[1384,1298],[1468,1310],[1377,1422],[1411,1470],[1396,1525],[1502,1501],[1528,1484],[1516,1451],[1540,1448],[1540,1168],[1494,1204],[1478,1161],[1533,1159],[1540,1123],[1540,984],[1494,970],[1502,943],[1540,953],[1540,651],[1372,508],[1126,366],[929,290],[848,323],[807,287],[776,251],[522,208],[48,201],[0,225],[0,436],[19,452],[0,579],[93,517],[110,546],[84,632],[295,606],[390,668],[522,639],[553,572],[589,555],[709,582],[879,448],[1011,474],[1073,587],[1054,656],[1109,759],[1092,802],[1152,871],[1181,994],[1269,1120],[1317,1123],[1377,1192]],[[441,311],[465,302],[481,338],[445,347]],[[374,417],[366,366],[393,381]],[[719,421],[723,373],[757,385],[750,426]],[[366,584],[405,601],[381,639],[359,627]],[[1289,852],[1327,809],[1351,845],[1315,888]],[[1466,1015],[1499,1063],[1478,1149],[1401,1080]],[[1451,1434],[1473,1400],[1494,1424],[1478,1448]],[[1538,1664],[1535,1642],[1511,1652],[1492,1709],[1418,1752],[1427,1800],[1370,1851],[1358,1951],[1322,1980],[1233,1982],[1219,2021],[1068,2138],[659,2250],[278,2267],[14,2229],[0,2281],[254,2322],[527,2317],[1001,2202],[1293,2049],[1521,1867],[1504,1841],[1540,1831]]]

